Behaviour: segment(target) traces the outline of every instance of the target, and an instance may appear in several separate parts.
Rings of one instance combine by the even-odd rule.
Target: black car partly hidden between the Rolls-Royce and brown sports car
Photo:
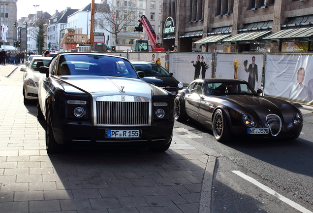
[[[136,71],[145,72],[145,77],[141,78],[147,83],[151,83],[161,87],[174,96],[178,90],[184,87],[183,83],[173,77],[173,73],[169,73],[162,66],[149,61],[130,61]]]

